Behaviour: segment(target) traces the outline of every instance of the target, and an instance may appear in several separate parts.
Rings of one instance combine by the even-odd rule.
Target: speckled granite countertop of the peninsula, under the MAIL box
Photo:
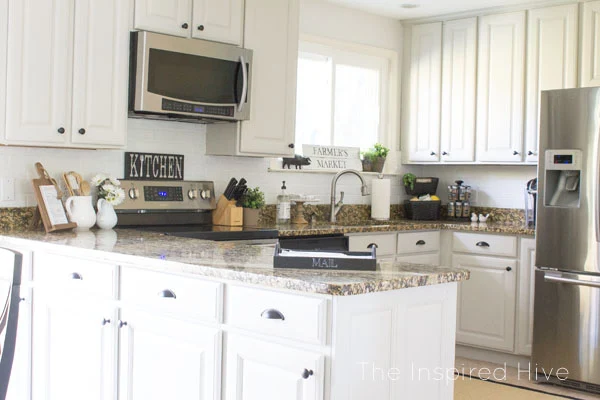
[[[431,229],[439,228],[433,224]],[[281,232],[288,233],[289,236],[289,231]],[[464,269],[409,264],[395,260],[379,261],[377,271],[374,272],[275,269],[273,268],[273,246],[175,238],[128,229],[66,231],[51,234],[20,231],[2,235],[12,241],[23,239],[36,241],[44,246],[69,246],[77,249],[78,254],[81,254],[81,249],[101,251],[105,259],[156,271],[185,273],[336,296],[469,279],[469,272]]]

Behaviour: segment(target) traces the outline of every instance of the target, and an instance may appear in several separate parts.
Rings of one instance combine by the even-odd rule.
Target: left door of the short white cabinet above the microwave
[[[135,0],[134,28],[190,37],[192,0]]]

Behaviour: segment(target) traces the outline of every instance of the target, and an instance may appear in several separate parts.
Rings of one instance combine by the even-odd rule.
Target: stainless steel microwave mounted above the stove
[[[252,50],[151,32],[131,33],[133,117],[246,120]]]

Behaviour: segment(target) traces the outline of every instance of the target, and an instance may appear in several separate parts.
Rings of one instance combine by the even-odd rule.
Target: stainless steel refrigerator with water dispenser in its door
[[[600,391],[599,146],[600,88],[542,92],[530,371],[592,391]]]

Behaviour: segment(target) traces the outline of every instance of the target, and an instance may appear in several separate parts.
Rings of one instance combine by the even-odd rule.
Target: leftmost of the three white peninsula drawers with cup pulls
[[[76,291],[114,298],[116,272],[117,267],[109,263],[52,253],[33,254],[34,284],[56,294]]]

